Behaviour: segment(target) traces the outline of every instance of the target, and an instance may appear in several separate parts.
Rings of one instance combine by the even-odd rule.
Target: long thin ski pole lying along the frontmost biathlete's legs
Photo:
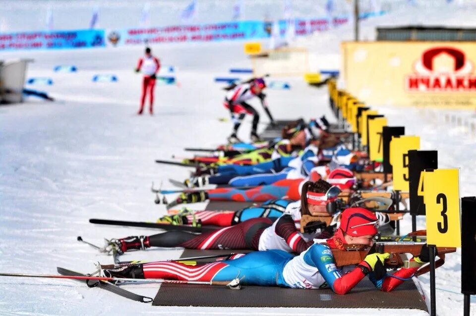
[[[107,276],[82,276],[82,275],[59,275],[59,274],[27,274],[27,273],[0,273],[0,276],[16,276],[16,277],[41,277],[53,279],[70,279],[70,280],[96,280],[95,284],[88,284],[90,287],[95,287],[99,281],[129,281],[129,282],[146,282],[146,283],[175,283],[175,284],[201,284],[201,285],[224,285],[230,289],[241,289],[240,280],[237,278],[231,281],[186,281],[186,280],[167,280],[167,279],[133,279],[133,278],[118,278]]]

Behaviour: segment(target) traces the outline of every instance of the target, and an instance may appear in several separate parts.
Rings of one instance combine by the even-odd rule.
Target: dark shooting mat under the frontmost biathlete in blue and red
[[[189,250],[181,257],[244,253],[243,250]],[[210,259],[210,261],[215,259]],[[393,292],[378,291],[363,279],[349,294],[337,295],[330,289],[290,289],[243,286],[230,290],[223,286],[163,284],[153,306],[202,307],[304,307],[304,308],[374,308],[416,309],[427,311],[426,304],[413,281],[406,281]]]

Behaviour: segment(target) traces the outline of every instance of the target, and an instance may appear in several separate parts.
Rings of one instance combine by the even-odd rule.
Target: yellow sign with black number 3
[[[459,170],[426,169],[422,175],[426,242],[461,247]]]

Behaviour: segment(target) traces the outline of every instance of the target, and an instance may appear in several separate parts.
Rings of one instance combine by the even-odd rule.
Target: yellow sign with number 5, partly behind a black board
[[[420,149],[419,136],[392,137],[390,141],[390,164],[392,165],[393,189],[409,191],[408,151]]]

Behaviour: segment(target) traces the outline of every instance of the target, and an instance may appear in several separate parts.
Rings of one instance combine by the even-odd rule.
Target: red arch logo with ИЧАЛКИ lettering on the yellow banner
[[[474,65],[465,53],[453,47],[426,50],[414,64],[414,74],[405,77],[411,92],[476,91]]]

